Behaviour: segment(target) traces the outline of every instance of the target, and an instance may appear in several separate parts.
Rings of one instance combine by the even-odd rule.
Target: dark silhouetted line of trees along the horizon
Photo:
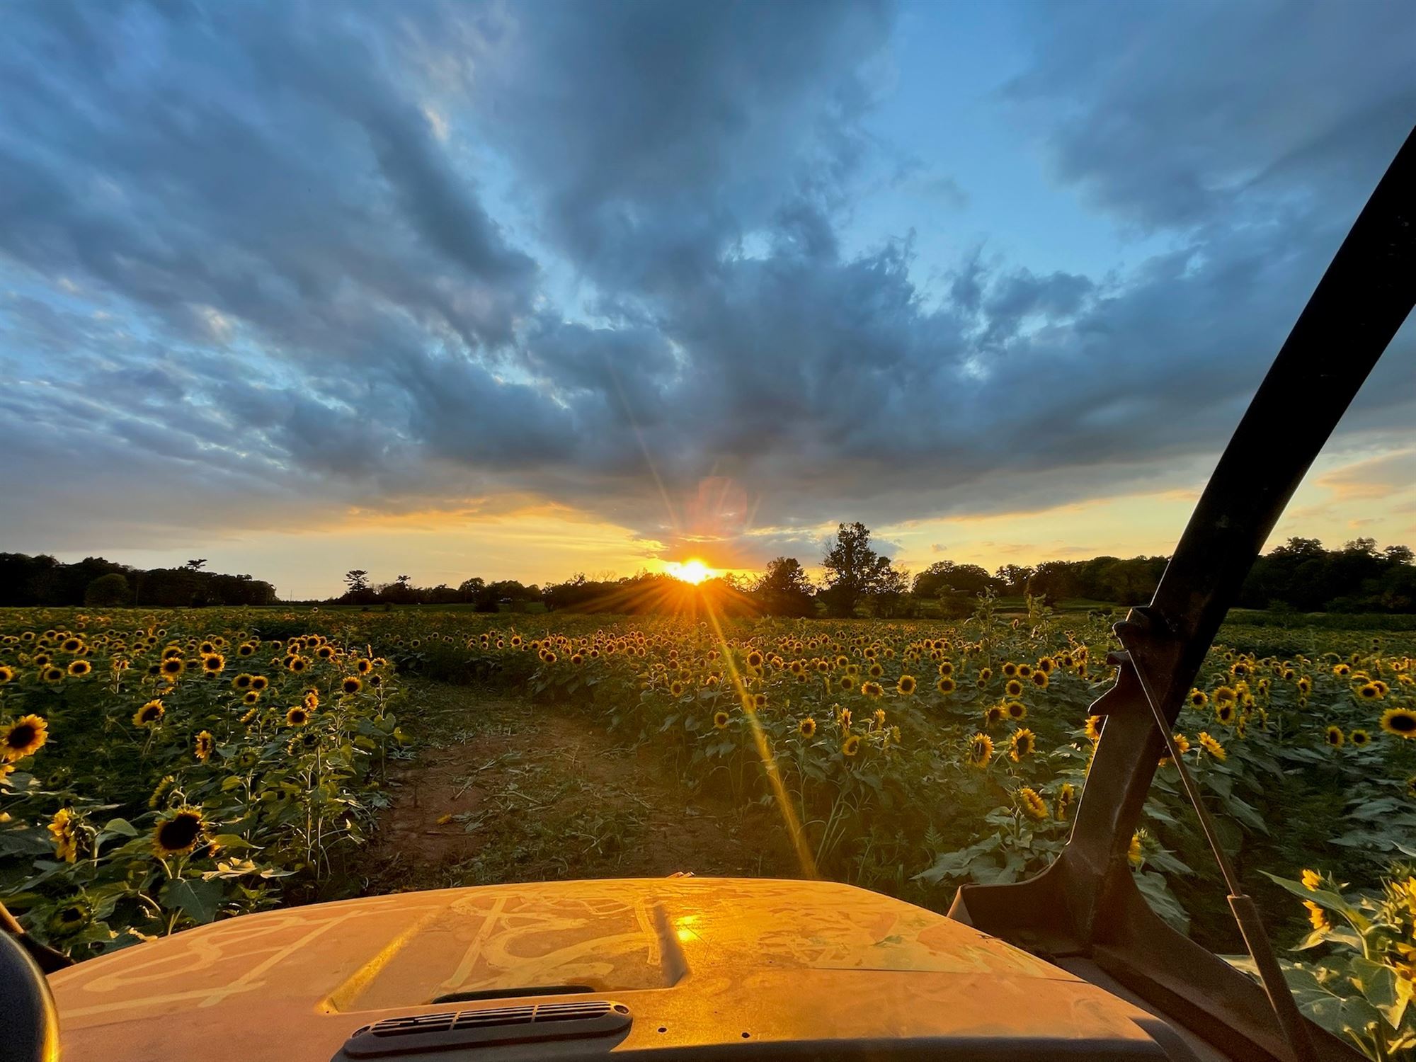
[[[729,615],[879,616],[919,615],[959,619],[978,598],[1031,595],[1055,605],[1065,599],[1104,605],[1150,600],[1165,556],[1093,556],[1086,561],[1008,564],[990,572],[974,564],[936,561],[919,572],[896,565],[871,544],[861,523],[840,524],[813,579],[794,556],[777,556],[756,579],[722,576],[705,582],[708,596]],[[202,571],[204,559],[183,568],[140,571],[89,556],[61,564],[52,556],[0,554],[0,605],[88,605],[153,607],[190,605],[273,605],[275,588],[249,575]],[[639,572],[622,579],[575,575],[538,586],[515,579],[479,576],[457,586],[415,586],[411,576],[377,583],[364,569],[344,575],[340,605],[467,605],[479,612],[651,613],[694,607],[694,592],[673,576]],[[1416,564],[1405,545],[1378,548],[1371,538],[1327,549],[1315,538],[1290,538],[1260,556],[1245,581],[1238,605],[1296,612],[1416,612]]]

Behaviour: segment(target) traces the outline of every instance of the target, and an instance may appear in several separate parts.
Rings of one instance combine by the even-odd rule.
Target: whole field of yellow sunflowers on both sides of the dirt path
[[[436,610],[0,616],[0,895],[75,956],[361,888],[350,857],[429,681],[575,712],[821,875],[947,908],[1066,841],[1109,620],[954,624]],[[1315,1020],[1416,1044],[1416,637],[1231,626],[1175,738]],[[1174,765],[1130,847],[1155,910],[1240,952]]]

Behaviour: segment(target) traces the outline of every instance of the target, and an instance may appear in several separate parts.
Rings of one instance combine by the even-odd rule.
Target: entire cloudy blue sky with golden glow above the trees
[[[20,3],[0,549],[548,582],[1165,554],[1416,6]],[[1341,357],[1341,351],[1334,351]],[[1274,539],[1416,545],[1416,326]]]

